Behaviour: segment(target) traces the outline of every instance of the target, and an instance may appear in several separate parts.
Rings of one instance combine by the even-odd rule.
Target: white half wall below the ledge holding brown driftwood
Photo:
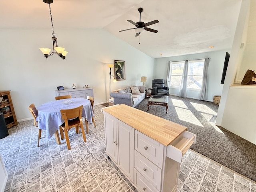
[[[221,126],[256,144],[256,88],[230,87]]]

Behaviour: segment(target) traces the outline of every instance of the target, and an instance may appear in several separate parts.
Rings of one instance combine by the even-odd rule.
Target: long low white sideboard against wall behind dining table
[[[71,98],[84,98],[87,96],[93,97],[93,88],[76,88],[76,89],[64,89],[55,90],[56,96],[71,95]]]

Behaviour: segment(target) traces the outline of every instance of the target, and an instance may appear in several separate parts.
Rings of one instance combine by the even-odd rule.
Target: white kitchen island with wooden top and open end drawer
[[[182,156],[196,135],[124,104],[102,112],[106,154],[133,186],[139,192],[175,192]]]

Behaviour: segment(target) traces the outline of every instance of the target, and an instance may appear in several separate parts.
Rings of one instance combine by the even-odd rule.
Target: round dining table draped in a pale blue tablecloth
[[[92,123],[93,112],[90,100],[84,98],[69,98],[50,101],[37,107],[38,127],[46,130],[46,137],[50,139],[55,134],[56,141],[60,144],[58,129],[64,123],[60,110],[72,109],[83,106],[82,117],[86,120],[86,129],[88,122]]]

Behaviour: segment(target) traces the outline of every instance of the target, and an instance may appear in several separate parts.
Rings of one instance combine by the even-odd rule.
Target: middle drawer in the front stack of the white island
[[[134,168],[160,191],[162,169],[134,150]]]

